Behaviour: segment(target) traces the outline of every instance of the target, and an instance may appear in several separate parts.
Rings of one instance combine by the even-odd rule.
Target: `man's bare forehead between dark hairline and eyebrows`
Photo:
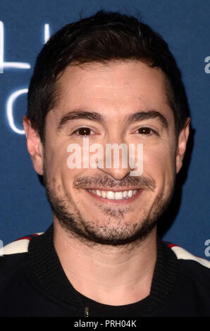
[[[74,109],[94,110],[108,119],[158,110],[173,121],[162,71],[140,61],[69,65],[57,85],[59,101],[48,114],[56,122]]]

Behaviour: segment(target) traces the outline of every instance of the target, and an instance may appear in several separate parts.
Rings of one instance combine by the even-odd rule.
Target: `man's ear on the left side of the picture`
[[[27,139],[27,151],[30,154],[35,171],[39,175],[43,175],[44,146],[39,134],[32,128],[31,121],[27,116],[23,116],[23,127]]]

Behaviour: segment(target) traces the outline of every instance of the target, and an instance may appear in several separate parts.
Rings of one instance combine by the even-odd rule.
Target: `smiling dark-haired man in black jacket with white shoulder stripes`
[[[210,263],[156,235],[190,126],[166,42],[119,13],[66,25],[37,58],[23,125],[53,225],[4,248],[1,316],[209,316]],[[94,144],[124,146],[120,166],[106,152],[90,166]]]

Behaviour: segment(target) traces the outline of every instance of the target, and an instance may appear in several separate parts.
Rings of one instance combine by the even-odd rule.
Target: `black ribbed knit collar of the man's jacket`
[[[53,225],[43,235],[32,238],[28,253],[32,272],[44,289],[68,304],[84,306],[82,296],[70,284],[54,249]],[[149,311],[158,307],[171,293],[177,275],[178,260],[173,251],[158,237],[157,260],[149,294]]]

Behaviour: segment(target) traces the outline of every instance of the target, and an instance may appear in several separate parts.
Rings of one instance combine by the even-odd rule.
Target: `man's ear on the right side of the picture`
[[[187,139],[190,133],[190,118],[188,117],[185,123],[185,127],[181,130],[178,137],[178,145],[176,151],[176,173],[180,171],[183,165],[183,158],[185,156],[185,150],[187,146]]]

